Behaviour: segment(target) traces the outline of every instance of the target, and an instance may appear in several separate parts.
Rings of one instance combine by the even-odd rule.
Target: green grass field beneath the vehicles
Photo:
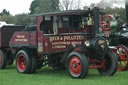
[[[128,85],[128,71],[101,76],[96,69],[90,69],[86,78],[72,79],[65,70],[55,71],[48,67],[35,74],[20,74],[14,65],[0,70],[0,85]]]

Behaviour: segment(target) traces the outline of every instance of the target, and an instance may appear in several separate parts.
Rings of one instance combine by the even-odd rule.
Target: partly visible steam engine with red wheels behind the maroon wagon
[[[109,41],[109,48],[118,56],[118,70],[128,68],[128,2],[125,0],[126,24],[122,26],[117,16],[104,15],[100,19],[100,27]]]

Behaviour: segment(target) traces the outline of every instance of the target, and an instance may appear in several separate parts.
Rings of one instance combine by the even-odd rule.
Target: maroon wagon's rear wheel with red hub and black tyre
[[[16,68],[20,73],[29,73],[32,69],[32,57],[27,50],[20,50],[16,55]]]

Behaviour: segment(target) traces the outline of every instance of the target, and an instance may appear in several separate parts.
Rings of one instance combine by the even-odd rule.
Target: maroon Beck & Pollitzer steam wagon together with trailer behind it
[[[35,26],[1,28],[0,69],[15,58],[20,73],[33,73],[45,65],[66,67],[73,78],[86,77],[88,69],[97,69],[102,75],[116,73],[118,59],[99,34],[97,8],[32,17],[36,17]]]

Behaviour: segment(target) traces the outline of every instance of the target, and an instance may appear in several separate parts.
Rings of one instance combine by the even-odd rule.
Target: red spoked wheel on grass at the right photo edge
[[[128,68],[128,48],[124,45],[117,46],[119,56],[118,70],[123,71]]]

